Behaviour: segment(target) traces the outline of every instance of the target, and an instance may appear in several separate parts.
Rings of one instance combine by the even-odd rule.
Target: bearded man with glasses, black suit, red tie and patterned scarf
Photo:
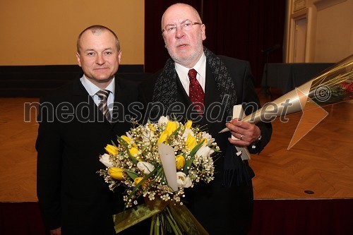
[[[149,104],[146,116],[153,121],[162,114],[192,119],[213,135],[222,150],[215,161],[215,180],[187,192],[186,206],[210,234],[246,234],[253,210],[254,174],[234,145],[260,152],[272,133],[270,123],[231,120],[235,104],[242,104],[246,114],[260,106],[249,62],[216,56],[203,47],[205,25],[187,4],[167,8],[162,36],[172,59],[140,85],[140,100]],[[218,133],[225,126],[231,131]]]

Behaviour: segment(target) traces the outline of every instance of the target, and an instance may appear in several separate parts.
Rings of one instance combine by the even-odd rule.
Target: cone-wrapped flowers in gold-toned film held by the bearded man
[[[316,77],[300,85],[261,109],[245,116],[241,121],[257,123],[271,121],[277,116],[317,109],[353,99],[353,54],[337,62]],[[311,105],[314,104],[314,105]],[[220,133],[229,131],[224,128]]]

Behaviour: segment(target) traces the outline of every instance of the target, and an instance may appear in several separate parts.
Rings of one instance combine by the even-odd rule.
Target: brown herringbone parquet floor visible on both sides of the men
[[[0,98],[0,202],[37,201],[38,125],[34,109],[24,121],[25,102],[38,99]],[[250,162],[256,199],[353,198],[353,102],[325,110],[328,116],[290,150],[301,113],[273,121],[270,143]]]

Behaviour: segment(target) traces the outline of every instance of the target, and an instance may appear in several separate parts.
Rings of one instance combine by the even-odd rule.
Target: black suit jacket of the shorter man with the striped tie
[[[97,174],[105,168],[99,156],[116,135],[129,130],[124,114],[137,99],[135,84],[115,80],[112,124],[79,79],[40,100],[37,196],[48,229],[61,227],[63,234],[115,234],[112,214],[123,208],[122,188],[109,191]]]

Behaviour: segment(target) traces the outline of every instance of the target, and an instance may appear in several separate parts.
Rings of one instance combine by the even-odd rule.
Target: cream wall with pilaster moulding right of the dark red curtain
[[[295,53],[293,22],[302,17],[308,23],[303,62],[335,63],[353,54],[353,0],[287,0],[286,62]]]

